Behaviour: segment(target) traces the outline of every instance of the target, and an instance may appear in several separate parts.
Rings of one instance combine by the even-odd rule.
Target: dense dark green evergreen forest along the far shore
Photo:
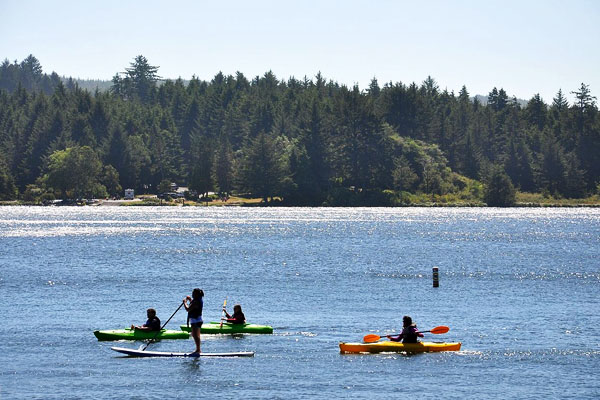
[[[289,206],[515,204],[515,193],[599,194],[600,117],[582,83],[551,104],[493,87],[424,82],[360,90],[321,74],[165,80],[137,56],[109,90],[0,65],[0,200],[160,194],[176,182]]]

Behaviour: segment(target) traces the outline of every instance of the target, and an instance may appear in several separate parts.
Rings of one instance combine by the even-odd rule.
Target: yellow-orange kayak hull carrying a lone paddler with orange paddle
[[[340,353],[427,353],[430,351],[459,351],[461,343],[419,342],[400,343],[383,341],[376,343],[340,342]]]

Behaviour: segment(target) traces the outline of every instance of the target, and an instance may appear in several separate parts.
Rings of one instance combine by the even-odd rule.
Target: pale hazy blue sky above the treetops
[[[159,75],[210,80],[272,70],[321,72],[366,88],[373,77],[551,102],[581,83],[600,97],[600,1],[0,0],[0,59],[111,79],[137,55]]]

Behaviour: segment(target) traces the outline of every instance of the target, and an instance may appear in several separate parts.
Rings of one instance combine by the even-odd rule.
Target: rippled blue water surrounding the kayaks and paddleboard
[[[2,207],[0,399],[598,398],[599,250],[598,209]],[[203,335],[256,355],[200,360],[93,336],[194,287],[205,320],[227,297],[275,334]],[[462,350],[339,354],[405,314]]]

